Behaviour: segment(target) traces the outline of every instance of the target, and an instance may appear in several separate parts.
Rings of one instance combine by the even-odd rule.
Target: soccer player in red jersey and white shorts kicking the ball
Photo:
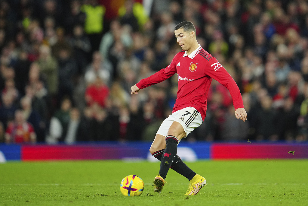
[[[196,195],[206,185],[206,180],[186,166],[176,152],[180,140],[200,126],[205,118],[212,78],[229,90],[235,117],[245,122],[247,114],[237,84],[217,59],[198,44],[193,23],[179,23],[174,34],[183,51],[177,53],[166,68],[132,86],[131,94],[138,94],[140,89],[162,82],[177,73],[176,103],[172,114],[160,125],[150,148],[151,154],[161,161],[159,173],[154,179],[154,192],[162,191],[171,168],[190,181],[185,195]]]

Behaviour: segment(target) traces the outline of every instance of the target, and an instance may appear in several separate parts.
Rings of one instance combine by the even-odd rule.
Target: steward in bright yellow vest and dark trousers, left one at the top
[[[81,6],[81,11],[86,14],[84,31],[90,39],[92,45],[91,52],[97,51],[103,34],[106,8],[99,5],[97,0],[89,0],[87,4]]]

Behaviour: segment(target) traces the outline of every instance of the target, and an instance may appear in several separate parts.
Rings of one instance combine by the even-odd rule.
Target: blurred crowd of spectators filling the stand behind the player
[[[213,80],[185,141],[307,141],[305,0],[0,0],[0,142],[152,141],[177,76],[130,95],[181,48],[174,27],[237,82],[248,117]]]

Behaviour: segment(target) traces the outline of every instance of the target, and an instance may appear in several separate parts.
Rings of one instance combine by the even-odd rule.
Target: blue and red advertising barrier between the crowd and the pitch
[[[2,159],[7,161],[148,159],[150,142],[99,142],[75,145],[0,145]],[[288,153],[295,151],[294,154]],[[209,143],[181,142],[179,156],[185,161],[198,159],[308,158],[308,143]],[[3,157],[4,156],[4,157]],[[2,162],[4,162],[2,161]]]

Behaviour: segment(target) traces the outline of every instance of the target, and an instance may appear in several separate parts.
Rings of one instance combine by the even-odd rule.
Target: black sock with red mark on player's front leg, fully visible
[[[160,169],[158,173],[164,179],[166,179],[168,170],[172,165],[173,160],[175,159],[177,152],[177,143],[179,143],[179,141],[176,137],[171,135],[166,137],[166,148],[161,157]]]

